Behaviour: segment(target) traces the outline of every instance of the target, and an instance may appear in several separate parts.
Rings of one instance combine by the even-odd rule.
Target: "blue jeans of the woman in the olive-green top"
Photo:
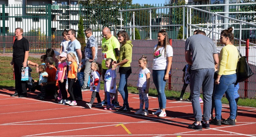
[[[129,76],[130,76],[130,74],[121,74],[120,73],[120,82],[119,82],[119,86],[118,86],[118,91],[123,98],[123,106],[126,105],[126,107],[129,107],[128,89],[127,89],[127,78]]]

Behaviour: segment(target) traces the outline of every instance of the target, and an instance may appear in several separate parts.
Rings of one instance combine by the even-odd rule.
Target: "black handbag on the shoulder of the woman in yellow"
[[[242,56],[239,50],[238,53],[238,62],[236,66],[236,84],[238,82],[245,81],[247,78],[253,75],[253,72],[247,63],[246,57]]]

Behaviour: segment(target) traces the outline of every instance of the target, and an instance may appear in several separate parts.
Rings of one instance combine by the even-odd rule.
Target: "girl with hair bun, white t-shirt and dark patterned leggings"
[[[144,116],[148,115],[148,90],[150,81],[150,71],[147,68],[148,60],[147,56],[142,55],[138,60],[139,67],[139,78],[137,84],[137,90],[139,90],[139,110],[135,114],[141,114]],[[143,106],[145,102],[145,111],[143,112]]]

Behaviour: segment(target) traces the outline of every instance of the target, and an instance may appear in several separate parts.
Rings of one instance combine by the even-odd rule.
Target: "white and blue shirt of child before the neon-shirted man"
[[[116,70],[108,69],[106,71],[106,74],[104,76],[104,82],[105,82],[105,91],[110,93],[116,93],[116,80],[113,81],[114,78],[117,77]],[[114,87],[111,89],[111,87]]]

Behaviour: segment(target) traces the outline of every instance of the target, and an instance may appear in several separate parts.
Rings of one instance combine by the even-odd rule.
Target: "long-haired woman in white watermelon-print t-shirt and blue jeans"
[[[165,96],[165,84],[169,79],[169,71],[172,65],[173,50],[169,43],[169,37],[166,31],[161,30],[157,35],[158,44],[154,46],[154,60],[152,67],[153,82],[156,86],[158,93],[159,109],[153,112],[154,115],[159,117],[165,117],[166,112],[166,96]]]

